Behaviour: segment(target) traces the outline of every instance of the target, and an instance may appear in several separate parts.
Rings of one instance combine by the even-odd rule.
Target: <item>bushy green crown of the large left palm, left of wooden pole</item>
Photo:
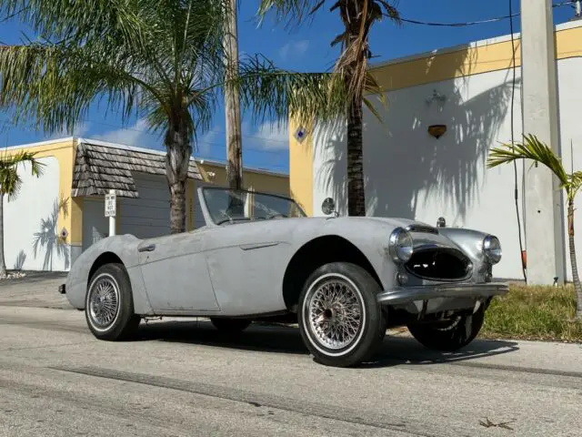
[[[26,6],[19,18],[45,40],[0,46],[0,105],[18,109],[16,124],[72,132],[88,107],[105,99],[105,110],[120,112],[122,124],[135,113],[148,119],[157,114],[155,129],[185,123],[193,137],[196,126],[209,125],[210,111],[196,107],[214,101],[190,98],[222,75],[224,5],[224,0],[0,0],[6,13]],[[186,110],[188,105],[194,110]]]

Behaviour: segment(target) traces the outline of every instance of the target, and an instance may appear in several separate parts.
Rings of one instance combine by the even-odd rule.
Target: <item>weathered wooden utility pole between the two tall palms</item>
[[[226,79],[238,76],[238,28],[236,24],[236,0],[228,0],[226,11],[224,48]],[[243,185],[243,140],[240,121],[240,97],[237,86],[225,87],[226,108],[226,178],[228,186],[240,189]]]

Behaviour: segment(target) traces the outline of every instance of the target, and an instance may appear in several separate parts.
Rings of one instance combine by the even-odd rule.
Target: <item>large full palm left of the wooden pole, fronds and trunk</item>
[[[284,72],[249,57],[235,61],[238,76],[226,76],[228,3],[0,0],[5,15],[15,15],[39,36],[0,46],[0,106],[16,109],[15,123],[24,120],[48,132],[73,131],[101,99],[105,111],[120,113],[123,123],[134,114],[146,117],[166,146],[170,229],[183,232],[189,159],[196,135],[210,127],[220,91],[236,86],[259,117],[285,117],[306,101],[324,115],[330,107],[321,98],[329,75]],[[316,97],[324,107],[316,107]]]

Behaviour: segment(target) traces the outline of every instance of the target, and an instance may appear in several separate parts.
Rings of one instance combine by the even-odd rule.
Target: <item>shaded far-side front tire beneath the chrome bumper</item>
[[[427,349],[454,352],[475,340],[483,327],[486,306],[481,305],[475,314],[458,314],[450,324],[410,323],[408,330]]]

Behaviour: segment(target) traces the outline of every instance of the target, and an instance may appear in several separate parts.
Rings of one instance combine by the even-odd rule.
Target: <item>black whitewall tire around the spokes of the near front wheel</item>
[[[356,301],[359,310],[359,323],[354,338],[346,342],[345,346],[330,348],[327,335],[319,336],[316,333],[312,315],[311,300],[321,292],[320,287],[328,281],[343,284],[348,289],[345,297]],[[382,306],[377,302],[376,295],[381,290],[376,280],[361,267],[347,262],[332,262],[316,269],[306,280],[306,284],[299,296],[297,322],[301,337],[311,352],[314,360],[326,366],[350,367],[367,361],[377,351],[386,336],[386,317]],[[332,307],[334,305],[331,305]],[[334,320],[334,312],[345,310],[345,305],[336,304],[336,309],[321,310],[319,318]],[[340,317],[345,316],[341,312]],[[362,317],[363,316],[363,317]]]

